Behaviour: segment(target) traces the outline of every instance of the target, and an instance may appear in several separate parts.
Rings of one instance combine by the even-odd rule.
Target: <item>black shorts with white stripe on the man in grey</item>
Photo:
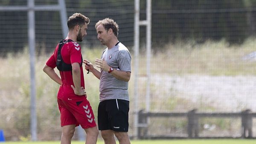
[[[129,101],[113,99],[101,101],[98,107],[99,130],[128,132]]]

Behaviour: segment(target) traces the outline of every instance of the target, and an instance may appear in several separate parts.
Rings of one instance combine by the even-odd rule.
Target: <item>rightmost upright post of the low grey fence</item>
[[[242,138],[252,138],[253,137],[253,119],[251,115],[251,110],[246,109],[241,112],[242,119]]]

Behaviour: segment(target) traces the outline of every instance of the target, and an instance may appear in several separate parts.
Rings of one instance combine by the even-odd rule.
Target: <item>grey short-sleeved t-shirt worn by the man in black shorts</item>
[[[102,53],[101,59],[105,60],[114,69],[131,72],[131,54],[122,43],[118,43],[111,49],[106,48]],[[109,99],[129,101],[128,82],[121,81],[102,69],[99,92],[99,101]]]

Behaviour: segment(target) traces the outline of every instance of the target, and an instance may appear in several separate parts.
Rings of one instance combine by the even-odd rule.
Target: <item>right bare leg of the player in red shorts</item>
[[[91,127],[84,130],[87,134],[85,144],[96,144],[99,135],[99,130],[97,127]]]

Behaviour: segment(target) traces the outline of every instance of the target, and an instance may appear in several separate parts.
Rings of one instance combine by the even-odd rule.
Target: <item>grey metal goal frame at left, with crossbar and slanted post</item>
[[[64,0],[58,0],[58,5],[35,6],[35,0],[28,0],[27,6],[0,6],[0,11],[27,11],[28,16],[28,44],[30,57],[30,130],[31,140],[37,141],[36,114],[36,82],[35,82],[35,11],[59,11],[61,16],[62,34],[68,33],[66,26],[67,12]]]

